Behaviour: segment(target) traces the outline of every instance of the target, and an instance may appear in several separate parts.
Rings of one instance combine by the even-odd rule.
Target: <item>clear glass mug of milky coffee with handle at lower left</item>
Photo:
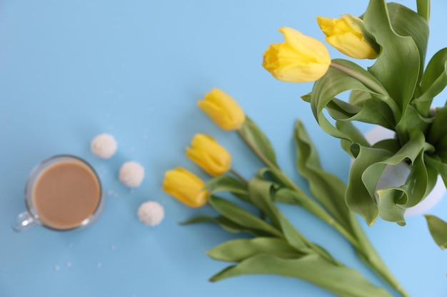
[[[104,208],[98,174],[72,155],[56,155],[34,167],[26,181],[27,210],[13,224],[15,231],[34,226],[68,231],[93,224]]]

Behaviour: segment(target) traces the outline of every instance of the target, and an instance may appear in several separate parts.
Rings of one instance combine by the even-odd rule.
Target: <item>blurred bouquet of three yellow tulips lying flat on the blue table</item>
[[[213,259],[234,263],[212,276],[211,281],[270,273],[301,278],[341,297],[392,296],[303,236],[281,212],[278,207],[281,203],[302,207],[333,227],[353,246],[358,258],[394,291],[400,296],[409,296],[368,241],[355,214],[346,206],[346,184],[322,169],[316,148],[301,121],[296,123],[293,133],[296,167],[308,181],[311,196],[281,170],[271,142],[233,98],[214,89],[198,104],[216,125],[224,130],[236,130],[265,165],[255,176],[246,179],[233,170],[231,155],[224,147],[211,136],[197,134],[191,147],[186,148],[186,156],[208,172],[211,180],[205,183],[182,167],[165,173],[163,189],[166,193],[189,207],[208,204],[218,213],[216,217],[195,217],[184,224],[211,222],[226,231],[253,236],[233,239],[208,251]]]

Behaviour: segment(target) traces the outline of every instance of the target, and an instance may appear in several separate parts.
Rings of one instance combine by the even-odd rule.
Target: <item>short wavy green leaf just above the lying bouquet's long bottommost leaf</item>
[[[272,237],[226,241],[207,251],[206,254],[213,259],[227,262],[243,261],[258,254],[269,254],[285,259],[303,256],[286,241]]]

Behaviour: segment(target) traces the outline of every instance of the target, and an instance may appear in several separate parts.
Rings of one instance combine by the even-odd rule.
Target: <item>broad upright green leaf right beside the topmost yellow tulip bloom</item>
[[[418,46],[412,36],[400,36],[394,31],[385,1],[370,1],[363,21],[382,47],[376,63],[368,71],[383,85],[403,113],[418,82],[418,66],[421,64]]]

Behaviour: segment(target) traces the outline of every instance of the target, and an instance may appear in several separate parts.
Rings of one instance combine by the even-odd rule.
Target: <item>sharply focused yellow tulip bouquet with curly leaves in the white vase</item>
[[[292,28],[281,28],[285,41],[272,44],[263,56],[263,67],[278,80],[315,81],[302,99],[318,125],[341,139],[353,157],[345,201],[369,225],[378,217],[406,224],[406,209],[431,192],[438,175],[447,184],[447,107],[432,106],[447,85],[447,48],[426,65],[430,1],[416,2],[413,11],[371,0],[360,17],[317,18],[327,43],[351,58],[373,59],[367,68],[331,59],[323,43]],[[346,93],[347,100],[336,97]],[[370,143],[355,121],[384,127],[394,137]],[[400,163],[410,169],[406,181],[378,189],[383,170]],[[426,218],[433,239],[447,247],[447,224]]]

